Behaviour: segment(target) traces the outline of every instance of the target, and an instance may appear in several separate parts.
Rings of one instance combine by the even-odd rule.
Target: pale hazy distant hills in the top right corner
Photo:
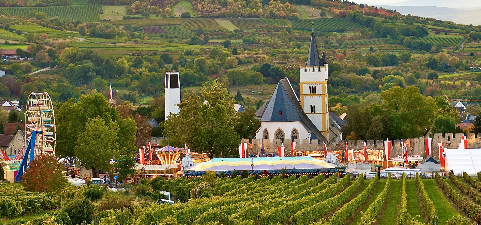
[[[419,0],[417,1],[420,2]],[[462,2],[463,0],[460,1]],[[426,2],[424,1],[422,1],[422,3],[426,4]],[[479,10],[463,10],[439,6],[378,5],[378,7],[396,10],[397,12],[404,15],[411,14],[421,17],[436,18],[437,20],[449,20],[453,21],[456,24],[473,24],[475,26],[481,25],[481,17],[479,16]]]

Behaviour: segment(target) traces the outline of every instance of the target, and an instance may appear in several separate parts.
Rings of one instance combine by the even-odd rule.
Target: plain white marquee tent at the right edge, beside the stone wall
[[[445,149],[445,171],[451,171],[456,175],[463,175],[466,171],[469,175],[481,171],[481,149]]]

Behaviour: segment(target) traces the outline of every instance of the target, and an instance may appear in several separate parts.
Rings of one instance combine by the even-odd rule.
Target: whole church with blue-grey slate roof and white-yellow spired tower
[[[314,29],[307,56],[307,63],[301,67],[299,85],[292,88],[288,78],[279,81],[270,100],[255,113],[261,127],[257,139],[318,140],[337,142],[342,140],[345,122],[328,105],[328,61],[323,51],[317,51]]]

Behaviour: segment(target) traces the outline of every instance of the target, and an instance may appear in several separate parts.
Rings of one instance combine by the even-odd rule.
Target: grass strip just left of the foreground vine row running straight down
[[[382,214],[379,216],[378,225],[392,225],[395,224],[398,206],[401,200],[401,180],[393,179],[391,184],[391,191],[389,192],[388,200],[384,204]]]

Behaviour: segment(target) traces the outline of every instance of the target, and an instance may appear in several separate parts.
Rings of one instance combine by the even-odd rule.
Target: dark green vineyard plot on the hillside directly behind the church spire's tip
[[[293,20],[292,28],[299,30],[312,30],[312,23],[316,31],[348,31],[362,29],[361,24],[354,23],[344,18]]]

